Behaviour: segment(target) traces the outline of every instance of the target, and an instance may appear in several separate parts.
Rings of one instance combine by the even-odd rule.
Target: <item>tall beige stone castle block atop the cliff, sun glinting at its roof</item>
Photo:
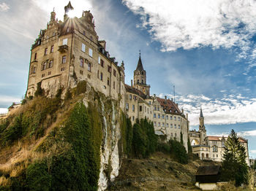
[[[64,22],[58,22],[52,12],[47,29],[32,45],[26,95],[34,95],[37,83],[53,96],[60,87],[66,91],[86,80],[96,90],[120,99],[124,108],[124,63],[118,66],[105,48],[91,12],[83,12],[80,18],[65,15]]]

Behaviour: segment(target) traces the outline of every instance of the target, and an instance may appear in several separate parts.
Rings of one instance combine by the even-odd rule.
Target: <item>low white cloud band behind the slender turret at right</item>
[[[162,94],[160,94],[162,95]],[[172,98],[173,95],[168,95]],[[198,125],[200,106],[207,125],[256,122],[256,98],[246,98],[241,94],[224,95],[224,98],[208,98],[205,95],[176,95],[179,108],[188,112],[190,125]],[[256,130],[241,132],[241,136],[256,136]]]

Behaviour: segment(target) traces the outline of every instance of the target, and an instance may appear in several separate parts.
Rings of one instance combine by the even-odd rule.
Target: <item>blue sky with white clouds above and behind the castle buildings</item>
[[[67,0],[0,0],[0,113],[26,93],[31,44],[53,7],[63,20]],[[139,50],[151,94],[174,98],[208,135],[233,128],[256,158],[256,1],[72,0],[74,14],[91,10],[99,39],[124,61],[130,85]]]

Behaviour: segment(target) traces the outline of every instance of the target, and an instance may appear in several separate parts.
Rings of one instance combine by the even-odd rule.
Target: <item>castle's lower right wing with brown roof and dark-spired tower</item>
[[[125,85],[126,112],[132,120],[145,118],[153,122],[157,135],[166,136],[167,140],[181,141],[183,137],[184,147],[187,149],[189,133],[189,120],[183,110],[178,109],[178,104],[173,100],[151,96],[150,85],[146,84],[146,71],[143,69],[141,58],[134,71],[134,84]]]

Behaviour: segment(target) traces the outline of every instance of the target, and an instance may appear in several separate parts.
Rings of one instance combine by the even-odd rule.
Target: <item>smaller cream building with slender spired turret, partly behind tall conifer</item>
[[[199,130],[189,130],[189,139],[192,145],[192,152],[201,160],[214,160],[222,162],[225,141],[227,136],[207,136],[206,126],[202,108],[200,109]],[[249,165],[248,140],[239,137],[240,143],[246,150],[246,163]]]

